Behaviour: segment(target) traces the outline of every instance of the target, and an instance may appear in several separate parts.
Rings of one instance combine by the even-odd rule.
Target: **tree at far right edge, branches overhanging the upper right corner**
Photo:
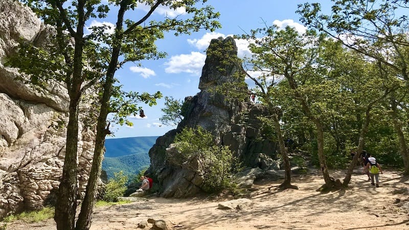
[[[299,5],[297,11],[307,26],[323,31],[342,42],[346,47],[373,58],[384,70],[395,73],[395,77],[405,81],[409,77],[409,18],[399,12],[409,8],[409,2],[393,1],[334,1],[331,16],[321,14],[320,4]],[[398,96],[391,106],[398,105]],[[404,103],[403,103],[404,104]],[[404,106],[402,104],[402,106]],[[405,106],[404,106],[405,107]],[[399,122],[398,122],[399,123]],[[395,125],[399,135],[404,174],[409,174],[409,155],[403,131]]]

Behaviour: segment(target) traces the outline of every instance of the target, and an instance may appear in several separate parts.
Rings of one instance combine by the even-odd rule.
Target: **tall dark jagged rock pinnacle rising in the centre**
[[[213,55],[214,51],[222,53],[223,57]],[[277,145],[263,139],[261,122],[257,119],[260,114],[267,113],[266,109],[249,101],[228,101],[224,95],[212,90],[224,83],[243,81],[235,77],[243,71],[241,65],[228,61],[235,57],[237,47],[233,38],[211,41],[200,77],[200,92],[194,97],[185,98],[184,106],[188,107],[188,111],[183,121],[177,129],[158,137],[150,149],[151,165],[147,173],[162,187],[161,196],[189,197],[202,191],[201,175],[190,170],[192,167],[189,164],[194,163],[181,163],[173,157],[174,148],[170,147],[176,133],[184,127],[201,126],[212,132],[214,142],[230,146],[245,166],[268,169],[268,159],[277,159]],[[248,91],[247,87],[241,90]]]

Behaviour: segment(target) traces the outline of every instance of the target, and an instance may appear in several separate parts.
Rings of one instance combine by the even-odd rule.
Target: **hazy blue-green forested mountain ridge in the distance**
[[[102,169],[109,178],[123,171],[128,179],[150,165],[149,149],[158,136],[137,136],[105,140],[105,158]]]

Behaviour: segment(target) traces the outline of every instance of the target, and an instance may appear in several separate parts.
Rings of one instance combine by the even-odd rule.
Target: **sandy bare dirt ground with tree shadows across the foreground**
[[[277,191],[281,180],[262,179],[248,198],[254,204],[247,210],[219,210],[223,199],[164,199],[97,208],[91,229],[140,229],[148,218],[171,222],[173,229],[409,229],[409,195],[396,191],[409,188],[409,177],[384,170],[380,187],[371,186],[357,169],[346,190],[319,193],[321,175],[294,176],[299,190]],[[344,172],[331,172],[344,178]],[[394,192],[395,191],[395,192]],[[407,191],[407,190],[406,190]],[[7,229],[56,229],[53,220],[40,223],[9,223]]]

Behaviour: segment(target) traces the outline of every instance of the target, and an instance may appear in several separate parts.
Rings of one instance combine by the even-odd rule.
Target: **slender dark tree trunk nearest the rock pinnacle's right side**
[[[275,111],[275,114],[273,115],[273,122],[274,122],[274,127],[277,132],[277,137],[278,137],[278,145],[280,148],[280,153],[281,156],[283,157],[283,162],[284,162],[284,181],[279,185],[278,188],[280,189],[298,189],[297,186],[291,185],[291,166],[290,166],[290,159],[288,158],[287,150],[285,149],[284,145],[284,137],[281,131],[281,126],[280,126],[280,121],[278,118],[278,112]]]

